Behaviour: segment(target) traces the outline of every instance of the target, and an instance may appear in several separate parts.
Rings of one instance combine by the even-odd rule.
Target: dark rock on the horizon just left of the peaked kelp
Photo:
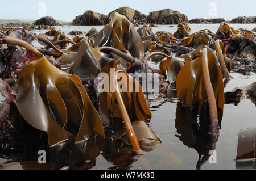
[[[84,14],[76,16],[73,20],[73,25],[90,26],[104,25],[108,20],[108,16],[93,11],[85,11]]]

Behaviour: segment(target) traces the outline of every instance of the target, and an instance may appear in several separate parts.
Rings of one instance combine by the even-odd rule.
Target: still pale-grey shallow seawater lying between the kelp
[[[218,24],[191,24],[191,33],[208,28],[212,32],[216,32]],[[247,28],[252,30],[256,24],[230,24],[231,27]],[[98,31],[103,26],[94,26]],[[56,30],[61,29],[65,33],[72,30],[79,30],[88,32],[92,26],[71,26],[60,27],[57,26]],[[168,31],[174,33],[177,26],[170,28],[160,26],[160,28],[152,28],[156,31]],[[35,31],[36,33],[44,33],[46,31]],[[72,38],[72,36],[69,36]],[[39,45],[39,44],[36,44]],[[151,64],[152,65],[152,64]],[[159,68],[158,65],[152,65],[154,68]],[[230,80],[225,87],[225,92],[230,91],[238,86],[248,86],[256,82],[256,74],[243,75],[238,73],[231,73],[233,79]],[[158,106],[159,104],[162,104]],[[152,111],[152,119],[150,127],[154,130],[156,135],[162,141],[162,144],[156,146],[150,152],[143,151],[146,162],[150,165],[151,169],[196,169],[196,164],[199,159],[197,151],[200,150],[200,141],[196,140],[191,131],[191,123],[181,123],[180,118],[176,115],[177,100],[154,100],[150,103]],[[176,121],[176,122],[175,122]],[[238,132],[241,129],[251,128],[256,126],[255,120],[255,104],[250,100],[245,99],[237,105],[225,104],[222,117],[222,129],[220,130],[220,137],[215,145],[217,153],[217,163],[210,164],[205,162],[201,169],[236,169],[236,154],[237,154],[237,141]],[[179,138],[180,137],[180,138]],[[4,162],[0,159],[0,163]],[[123,160],[125,162],[125,159]],[[113,168],[113,163],[107,161],[102,154],[96,158],[96,163],[92,169],[109,169]],[[135,157],[130,169],[145,169],[143,159]]]

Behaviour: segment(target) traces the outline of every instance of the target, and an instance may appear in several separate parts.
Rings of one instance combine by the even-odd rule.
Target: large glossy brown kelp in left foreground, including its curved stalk
[[[80,127],[76,141],[91,137],[94,132],[104,137],[100,117],[76,75],[57,69],[24,41],[4,37],[2,42],[22,46],[35,54],[34,61],[24,66],[19,75],[16,105],[27,123],[47,132],[50,146],[70,138],[75,140],[76,135],[64,129],[74,121]],[[78,115],[74,110],[79,111]]]

